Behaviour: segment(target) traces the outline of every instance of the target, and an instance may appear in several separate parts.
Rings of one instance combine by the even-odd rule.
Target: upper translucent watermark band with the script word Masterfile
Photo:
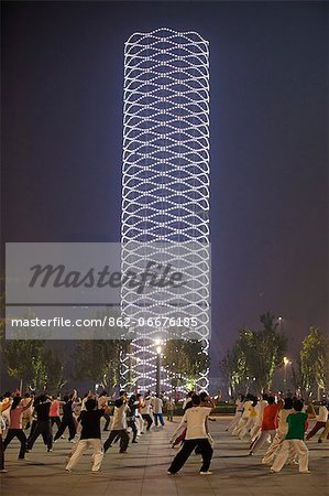
[[[205,302],[210,284],[204,266],[209,246],[196,241],[130,242],[129,250],[111,242],[7,244],[6,299],[50,305]]]

